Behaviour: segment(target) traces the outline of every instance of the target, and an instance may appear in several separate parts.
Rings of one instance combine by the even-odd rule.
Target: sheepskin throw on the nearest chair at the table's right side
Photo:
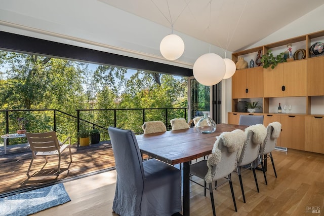
[[[205,181],[207,183],[213,181],[213,176],[216,174],[212,173],[213,166],[216,166],[222,159],[222,153],[218,149],[219,141],[222,139],[223,145],[227,147],[228,152],[235,152],[242,148],[246,137],[245,132],[239,129],[233,130],[232,132],[223,132],[216,137],[212,155],[210,155],[207,160],[208,172],[205,175]]]

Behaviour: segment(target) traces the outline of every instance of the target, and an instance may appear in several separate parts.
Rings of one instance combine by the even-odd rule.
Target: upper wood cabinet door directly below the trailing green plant
[[[274,69],[271,67],[263,69],[264,97],[282,97],[284,95],[281,90],[284,85],[282,69],[282,63],[277,64]]]

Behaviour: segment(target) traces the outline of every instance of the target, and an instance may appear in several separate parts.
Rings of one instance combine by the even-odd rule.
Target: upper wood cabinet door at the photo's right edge
[[[324,95],[324,57],[307,59],[307,95]]]

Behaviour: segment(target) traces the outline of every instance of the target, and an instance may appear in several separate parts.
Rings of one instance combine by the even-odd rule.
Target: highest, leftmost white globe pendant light
[[[160,52],[166,59],[176,60],[184,51],[183,40],[177,34],[169,34],[160,43]]]

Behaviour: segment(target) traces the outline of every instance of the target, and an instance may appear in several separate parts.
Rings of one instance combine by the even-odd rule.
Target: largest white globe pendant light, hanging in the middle
[[[200,56],[193,64],[193,76],[198,83],[213,86],[219,83],[226,71],[225,61],[215,53]]]

